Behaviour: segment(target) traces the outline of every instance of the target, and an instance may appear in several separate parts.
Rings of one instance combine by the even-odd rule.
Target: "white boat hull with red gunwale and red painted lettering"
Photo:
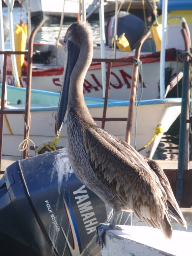
[[[34,50],[40,46],[35,44]],[[47,46],[45,45],[45,48]],[[64,48],[64,47],[62,47]],[[58,49],[58,56],[63,56],[63,49]],[[44,52],[42,50],[42,52]],[[96,57],[96,56],[95,56]],[[33,61],[32,69],[32,88],[36,90],[46,90],[51,92],[60,92],[62,85],[63,66],[54,66],[53,64],[39,63],[40,58],[36,57]],[[45,58],[45,57],[44,57]],[[10,58],[9,58],[10,59]],[[128,58],[120,58],[132,60],[133,56]],[[160,52],[144,54],[140,56],[142,61],[142,77],[143,91],[142,99],[150,100],[160,98],[159,90],[159,69],[160,69]],[[62,60],[64,61],[64,60]],[[130,84],[132,79],[132,63],[114,62],[111,69],[110,94],[109,97],[118,100],[127,100],[130,94]],[[179,72],[182,71],[183,63],[179,61],[176,50],[167,50],[165,62],[165,80],[166,85]],[[84,80],[84,96],[102,98],[102,74],[101,62],[92,62]],[[27,66],[23,66],[20,85],[26,88]],[[11,61],[8,60],[6,82],[8,85],[15,86],[14,77],[12,75]],[[138,94],[141,93],[141,86],[138,87]]]

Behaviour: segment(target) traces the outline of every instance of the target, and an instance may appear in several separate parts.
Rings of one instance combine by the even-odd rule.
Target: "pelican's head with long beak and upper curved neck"
[[[70,84],[77,90],[83,86],[84,77],[92,61],[93,40],[90,25],[87,22],[73,23],[66,32],[64,43],[64,74],[55,124],[57,136],[66,114]]]

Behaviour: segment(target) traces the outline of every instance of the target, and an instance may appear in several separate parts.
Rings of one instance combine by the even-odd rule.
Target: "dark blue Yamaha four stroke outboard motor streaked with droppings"
[[[111,216],[78,180],[65,148],[17,161],[0,180],[0,255],[100,255],[96,225]],[[119,224],[131,224],[130,213]]]

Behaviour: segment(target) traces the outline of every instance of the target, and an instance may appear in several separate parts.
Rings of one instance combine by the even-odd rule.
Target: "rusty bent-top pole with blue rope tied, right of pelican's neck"
[[[141,47],[142,47],[143,43],[145,42],[145,40],[150,36],[150,34],[151,34],[150,31],[147,31],[136,46],[135,58],[138,61],[140,60]],[[126,134],[125,134],[125,141],[128,144],[130,144],[130,139],[131,139],[131,130],[132,130],[133,114],[134,114],[134,104],[135,104],[136,89],[137,89],[137,77],[138,77],[138,64],[134,63],[133,64],[133,72],[132,72],[132,80],[131,80],[130,97],[129,97],[129,108],[128,108]]]

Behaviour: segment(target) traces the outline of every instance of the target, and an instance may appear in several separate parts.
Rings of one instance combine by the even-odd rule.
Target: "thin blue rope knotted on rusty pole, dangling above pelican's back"
[[[138,106],[142,97],[142,93],[143,93],[143,70],[142,70],[142,62],[140,60],[138,60],[137,58],[133,58],[133,62],[138,65],[138,74],[137,74],[137,88],[136,88],[136,120],[135,120],[135,148],[136,148],[136,132],[137,132],[137,115],[138,115]],[[140,94],[140,98],[137,102],[137,93],[138,93],[138,84],[139,84],[139,70],[141,71],[141,94]]]

